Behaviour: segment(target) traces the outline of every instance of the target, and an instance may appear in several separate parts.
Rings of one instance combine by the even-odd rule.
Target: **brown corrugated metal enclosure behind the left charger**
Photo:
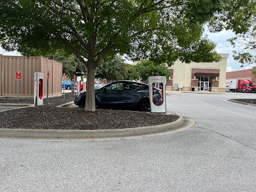
[[[43,96],[47,90],[47,71],[50,71],[49,95],[61,94],[62,63],[43,56],[6,56],[0,54],[0,96],[17,96],[16,71],[21,72],[19,96],[33,97],[35,72],[43,73]]]

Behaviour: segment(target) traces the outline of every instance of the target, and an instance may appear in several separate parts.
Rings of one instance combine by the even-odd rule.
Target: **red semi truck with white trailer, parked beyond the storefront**
[[[227,79],[226,88],[231,92],[250,92],[255,93],[255,87],[247,79]]]

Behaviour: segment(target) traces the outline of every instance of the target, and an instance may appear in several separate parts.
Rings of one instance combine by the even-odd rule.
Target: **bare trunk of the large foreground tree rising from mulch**
[[[96,110],[94,88],[95,70],[95,65],[87,65],[87,93],[85,100],[85,110],[91,112]]]

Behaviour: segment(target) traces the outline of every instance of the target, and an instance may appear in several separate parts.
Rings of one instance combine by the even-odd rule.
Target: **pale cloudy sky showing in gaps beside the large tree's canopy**
[[[212,41],[215,41],[217,44],[216,51],[217,53],[228,53],[228,61],[227,61],[227,72],[237,71],[237,70],[245,70],[248,68],[252,68],[253,66],[249,65],[245,68],[240,68],[240,63],[233,59],[232,51],[234,50],[233,46],[227,40],[235,36],[235,33],[232,31],[221,31],[220,33],[210,33],[209,31],[205,31],[205,35],[208,35],[208,38]],[[3,50],[0,46],[0,54],[3,55],[20,55],[18,52],[8,52]]]

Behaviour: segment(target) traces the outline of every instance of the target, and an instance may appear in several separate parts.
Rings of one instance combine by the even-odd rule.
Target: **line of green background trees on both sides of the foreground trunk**
[[[85,65],[75,55],[65,56],[61,53],[55,53],[55,55],[47,55],[46,57],[63,63],[63,73],[66,73],[67,77],[71,79],[74,75],[87,75]],[[122,56],[105,58],[100,62],[95,73],[96,78],[105,79],[107,82],[115,80],[141,80],[146,82],[147,77],[158,75],[169,77],[171,72],[168,70],[168,65],[165,63],[158,64],[151,60],[141,60],[131,65],[125,63]]]

